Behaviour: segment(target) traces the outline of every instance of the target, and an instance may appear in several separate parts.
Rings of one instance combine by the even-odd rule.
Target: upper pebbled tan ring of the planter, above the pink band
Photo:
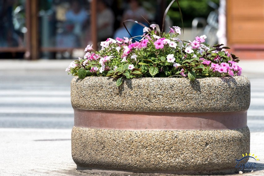
[[[109,77],[74,77],[71,101],[75,109],[150,112],[233,112],[250,104],[245,76],[126,79],[120,87]]]

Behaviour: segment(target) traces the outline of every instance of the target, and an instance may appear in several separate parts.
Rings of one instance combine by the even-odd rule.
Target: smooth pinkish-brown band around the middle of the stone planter
[[[226,130],[247,126],[247,111],[138,112],[74,109],[74,126],[112,130]]]

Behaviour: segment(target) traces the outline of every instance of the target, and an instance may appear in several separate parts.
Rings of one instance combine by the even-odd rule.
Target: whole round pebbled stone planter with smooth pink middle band
[[[72,79],[72,157],[101,175],[229,174],[249,153],[244,76]],[[142,174],[144,173],[144,174]]]

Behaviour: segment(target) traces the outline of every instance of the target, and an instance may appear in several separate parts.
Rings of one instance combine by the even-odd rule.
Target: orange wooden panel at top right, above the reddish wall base
[[[264,1],[227,0],[227,41],[264,44]]]

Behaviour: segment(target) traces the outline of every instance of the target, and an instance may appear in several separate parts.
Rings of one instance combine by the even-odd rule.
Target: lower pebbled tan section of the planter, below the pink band
[[[236,130],[125,131],[73,127],[77,166],[154,173],[235,171],[249,153],[249,128]],[[222,171],[221,171],[222,170]]]

